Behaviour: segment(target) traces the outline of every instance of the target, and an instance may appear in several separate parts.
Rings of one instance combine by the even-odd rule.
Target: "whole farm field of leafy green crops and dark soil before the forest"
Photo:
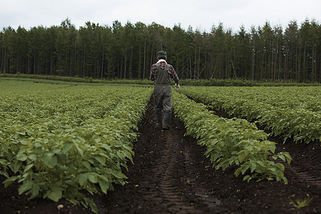
[[[0,188],[0,208],[6,213],[91,213],[91,210],[71,203],[76,201],[71,200],[65,190],[72,182],[71,186],[78,185],[79,188],[69,188],[68,192],[73,190],[87,198],[88,207],[93,205],[92,200],[100,213],[321,212],[318,87],[306,87],[312,91],[308,91],[308,95],[295,96],[295,103],[287,99],[293,96],[280,93],[280,100],[273,104],[272,98],[267,96],[271,93],[266,91],[262,93],[265,99],[255,99],[266,106],[276,106],[278,112],[294,109],[305,113],[300,116],[309,121],[308,129],[312,130],[309,126],[312,122],[319,127],[306,135],[310,135],[309,141],[305,141],[302,132],[292,132],[297,136],[276,131],[275,135],[268,135],[273,129],[264,132],[260,128],[274,127],[271,124],[275,123],[261,122],[258,129],[255,123],[250,123],[256,121],[254,116],[246,121],[244,114],[223,108],[228,102],[213,103],[214,99],[210,97],[220,95],[220,100],[232,103],[233,93],[242,98],[236,94],[236,89],[250,94],[249,88],[245,87],[227,87],[234,91],[226,93],[226,98],[223,89],[218,87],[182,86],[180,93],[173,91],[170,131],[156,129],[151,86],[52,84],[0,78],[0,88],[1,181],[6,180],[5,176],[12,178],[12,183],[9,180],[11,185]],[[275,91],[277,93],[277,88]],[[196,94],[207,95],[207,99],[202,100],[202,96]],[[253,96],[244,99],[253,101]],[[281,100],[284,102],[280,103]],[[305,118],[312,114],[314,119]],[[204,123],[206,119],[215,123]],[[218,126],[222,129],[215,133]],[[225,130],[228,131],[225,133]],[[225,144],[215,147],[216,136]],[[230,156],[225,145],[233,147],[234,144],[228,143],[236,141],[243,143],[233,148],[234,156]],[[245,155],[249,148],[245,142],[262,151],[266,148],[266,151],[251,153],[256,158],[251,159],[250,153]],[[42,149],[38,151],[40,147]],[[227,155],[215,154],[217,148]],[[275,154],[275,165],[262,158],[266,152]],[[263,173],[263,166],[256,164],[258,161],[268,163],[266,168],[272,170]],[[247,167],[245,163],[250,165]],[[212,167],[213,164],[218,170]],[[15,180],[14,176],[19,173],[22,177]],[[29,182],[31,188],[25,185],[23,191],[19,185],[24,180],[19,179],[31,175],[34,176]],[[54,180],[57,177],[59,179]],[[51,183],[41,186],[39,179],[42,178],[47,181],[50,178]],[[32,184],[36,179],[39,188]],[[28,191],[29,195],[25,195]],[[47,194],[46,198],[51,200],[42,199],[43,195],[39,198],[40,193]],[[60,195],[63,199],[54,202]],[[32,196],[34,199],[28,200]],[[291,202],[297,204],[297,200],[302,202],[307,198],[312,200],[304,208],[295,208]],[[76,199],[80,203],[84,201]],[[60,204],[63,208],[57,210]]]

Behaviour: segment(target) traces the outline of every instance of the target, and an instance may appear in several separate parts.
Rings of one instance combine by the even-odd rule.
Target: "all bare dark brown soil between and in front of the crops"
[[[220,116],[227,116],[218,112]],[[183,123],[172,117],[170,131],[156,128],[153,99],[138,124],[135,156],[128,162],[125,186],[115,185],[107,195],[88,195],[100,213],[321,213],[321,144],[278,144],[293,160],[285,164],[289,184],[276,181],[243,182],[235,177],[235,167],[215,170],[205,148],[197,140],[184,136]],[[1,178],[2,182],[4,178]],[[0,187],[0,213],[91,213],[66,200],[33,199],[18,194],[17,183]],[[295,208],[291,200],[312,201]],[[61,210],[58,205],[63,205]]]

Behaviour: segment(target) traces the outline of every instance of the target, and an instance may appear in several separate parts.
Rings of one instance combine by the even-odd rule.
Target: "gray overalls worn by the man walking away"
[[[158,125],[162,124],[162,115],[164,111],[164,126],[170,126],[170,117],[172,109],[172,90],[170,88],[170,78],[168,76],[169,65],[163,70],[160,64],[156,64],[157,76],[154,86],[154,111]]]

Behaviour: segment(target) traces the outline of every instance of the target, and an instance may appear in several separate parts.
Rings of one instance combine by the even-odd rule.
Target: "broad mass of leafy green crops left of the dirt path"
[[[3,84],[2,84],[3,83]],[[124,184],[150,88],[1,82],[0,173],[19,194],[65,198],[97,212],[81,193]]]

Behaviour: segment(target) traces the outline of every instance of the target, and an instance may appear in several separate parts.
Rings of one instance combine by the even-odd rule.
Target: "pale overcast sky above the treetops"
[[[66,18],[78,29],[86,21],[112,26],[113,21],[126,24],[138,21],[146,25],[156,22],[173,28],[210,31],[223,23],[225,29],[238,31],[244,25],[286,28],[290,21],[300,24],[308,19],[321,21],[320,0],[0,0],[0,31],[11,26],[58,26]]]

